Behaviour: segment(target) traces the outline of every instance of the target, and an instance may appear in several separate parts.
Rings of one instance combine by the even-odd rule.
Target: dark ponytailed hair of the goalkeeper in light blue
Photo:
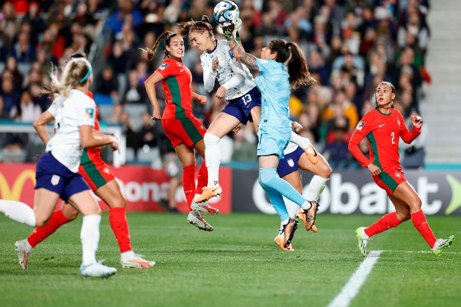
[[[287,60],[288,75],[290,76],[291,88],[310,86],[317,82],[307,67],[306,58],[296,43],[287,43],[283,39],[273,39],[269,42],[268,48],[272,53],[277,53],[276,61],[285,63]]]

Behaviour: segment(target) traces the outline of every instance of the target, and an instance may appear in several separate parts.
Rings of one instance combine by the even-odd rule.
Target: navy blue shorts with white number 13
[[[251,109],[261,106],[261,92],[255,86],[245,95],[229,100],[229,103],[222,112],[237,118],[242,124],[246,125],[248,121],[253,123],[251,118]]]

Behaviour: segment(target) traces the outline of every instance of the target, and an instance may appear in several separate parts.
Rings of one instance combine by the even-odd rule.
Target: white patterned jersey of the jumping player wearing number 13
[[[211,69],[214,58],[218,58],[219,65],[216,71]],[[216,41],[216,48],[210,52],[204,51],[200,56],[203,69],[203,83],[205,90],[211,92],[214,80],[218,79],[226,91],[226,100],[243,96],[256,86],[255,79],[248,68],[238,62],[224,39]]]

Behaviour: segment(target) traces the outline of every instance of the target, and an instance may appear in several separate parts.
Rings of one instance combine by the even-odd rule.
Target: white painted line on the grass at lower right
[[[381,255],[382,250],[372,250],[369,252],[365,260],[360,264],[359,268],[355,273],[349,278],[349,281],[341,289],[341,292],[336,296],[336,298],[328,304],[327,307],[347,307],[355,296],[359,293],[360,287],[367,280],[367,277],[373,266],[378,261],[379,256]]]

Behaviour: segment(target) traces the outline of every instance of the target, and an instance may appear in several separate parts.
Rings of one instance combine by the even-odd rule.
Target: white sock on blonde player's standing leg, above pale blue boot
[[[82,265],[96,262],[96,250],[99,243],[99,224],[101,216],[98,214],[83,217],[80,239],[82,241]]]

